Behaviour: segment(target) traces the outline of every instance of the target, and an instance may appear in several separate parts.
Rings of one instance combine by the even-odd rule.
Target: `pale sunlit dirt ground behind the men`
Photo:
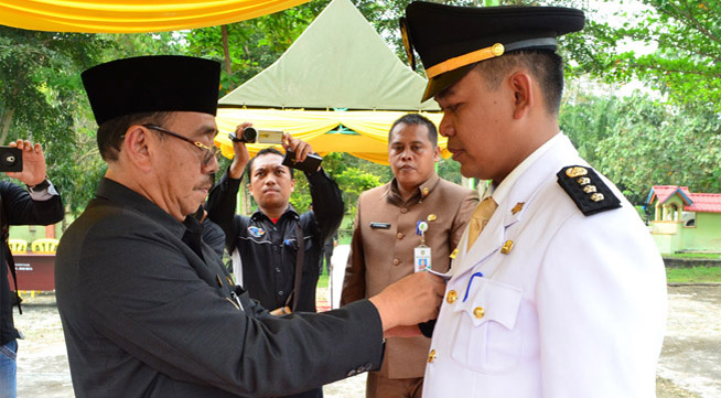
[[[669,287],[666,340],[658,366],[659,398],[721,397],[721,286]],[[55,295],[24,297],[15,316],[18,397],[72,398],[73,387]],[[365,397],[365,375],[323,388],[326,398]]]

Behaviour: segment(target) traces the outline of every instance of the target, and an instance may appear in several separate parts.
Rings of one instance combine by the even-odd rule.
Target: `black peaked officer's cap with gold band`
[[[583,29],[583,11],[560,7],[454,7],[413,1],[400,20],[415,67],[418,52],[428,86],[421,101],[450,87],[475,63],[514,50],[556,51],[556,37]]]

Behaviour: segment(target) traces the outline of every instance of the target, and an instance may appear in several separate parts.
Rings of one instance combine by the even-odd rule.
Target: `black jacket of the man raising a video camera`
[[[315,312],[315,287],[323,245],[343,220],[341,190],[323,171],[305,173],[313,200],[313,211],[298,214],[293,206],[277,223],[257,211],[250,217],[235,214],[240,179],[226,172],[211,190],[207,215],[225,232],[228,252],[236,248],[243,260],[243,287],[252,299],[268,309],[286,305],[293,291],[298,239],[295,226],[303,232],[303,275],[298,311]],[[238,279],[238,276],[236,276]]]

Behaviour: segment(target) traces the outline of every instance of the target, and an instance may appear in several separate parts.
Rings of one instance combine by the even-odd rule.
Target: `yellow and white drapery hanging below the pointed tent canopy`
[[[228,159],[233,158],[233,143],[227,136],[235,131],[236,126],[244,121],[250,121],[257,129],[277,129],[290,132],[293,138],[309,142],[313,150],[321,154],[348,152],[360,159],[388,164],[388,130],[394,121],[406,114],[385,110],[220,108],[216,118],[219,132],[215,137],[215,143],[220,148],[223,155]],[[443,117],[440,112],[420,114],[432,120],[435,126]],[[340,125],[353,130],[356,135],[329,132],[337,129]],[[443,158],[448,158],[450,153],[445,149],[446,139],[439,137],[438,144],[441,147]],[[268,146],[248,144],[247,147],[252,157]]]

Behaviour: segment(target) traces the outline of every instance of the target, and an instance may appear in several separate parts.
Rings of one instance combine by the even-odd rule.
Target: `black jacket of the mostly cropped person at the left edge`
[[[53,189],[54,192],[54,189]],[[33,201],[30,193],[10,182],[0,181],[0,201],[2,201],[2,220],[7,228],[9,225],[50,225],[63,219],[65,211],[60,195],[53,194],[47,201]],[[8,279],[8,252],[6,243],[0,244],[0,345],[6,345],[20,335],[12,322],[11,291]]]

